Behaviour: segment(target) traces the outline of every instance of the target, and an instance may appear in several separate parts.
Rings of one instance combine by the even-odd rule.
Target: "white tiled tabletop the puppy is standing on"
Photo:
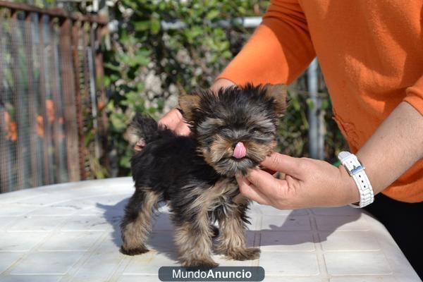
[[[158,281],[160,266],[177,265],[167,214],[154,225],[151,252],[118,252],[132,192],[130,178],[114,178],[0,195],[0,281]],[[216,256],[221,266],[263,266],[265,281],[420,281],[384,226],[359,209],[254,204],[250,215],[249,244],[261,247],[261,257]]]

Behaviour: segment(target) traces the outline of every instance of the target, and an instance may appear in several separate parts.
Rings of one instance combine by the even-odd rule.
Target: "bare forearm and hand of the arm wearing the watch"
[[[391,185],[423,157],[423,116],[401,102],[357,152],[377,194]],[[253,169],[247,178],[237,178],[240,191],[260,204],[278,209],[337,207],[358,202],[353,178],[343,166],[326,161],[293,158],[274,153],[262,165],[286,173],[285,180]]]

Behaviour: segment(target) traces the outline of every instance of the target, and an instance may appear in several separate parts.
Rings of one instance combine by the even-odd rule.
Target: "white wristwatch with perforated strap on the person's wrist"
[[[355,154],[350,152],[340,152],[338,159],[341,164],[345,167],[351,177],[353,177],[355,184],[357,185],[358,191],[360,192],[360,202],[350,204],[351,207],[366,207],[372,204],[374,201],[374,193],[372,184],[370,184],[369,178],[367,178],[364,166],[358,161]]]

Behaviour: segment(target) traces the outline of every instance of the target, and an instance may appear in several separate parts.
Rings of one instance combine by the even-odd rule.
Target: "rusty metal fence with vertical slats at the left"
[[[104,18],[0,1],[1,192],[94,177],[106,151]]]

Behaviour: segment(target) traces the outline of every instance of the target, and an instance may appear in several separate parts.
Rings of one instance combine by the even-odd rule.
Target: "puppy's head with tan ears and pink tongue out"
[[[180,96],[183,117],[207,163],[225,176],[245,175],[276,147],[286,109],[285,85],[250,84]]]

